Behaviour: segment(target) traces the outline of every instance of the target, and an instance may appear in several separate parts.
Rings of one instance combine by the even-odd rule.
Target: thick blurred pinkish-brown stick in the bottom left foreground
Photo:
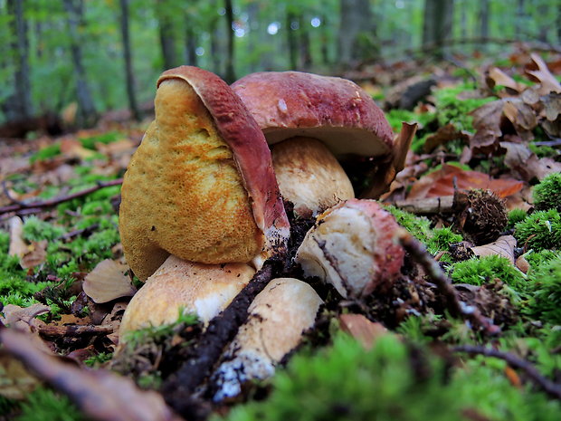
[[[19,359],[38,378],[67,395],[84,415],[100,421],[181,421],[153,391],[142,391],[132,380],[107,370],[76,368],[33,346],[16,330],[0,330],[5,353]]]

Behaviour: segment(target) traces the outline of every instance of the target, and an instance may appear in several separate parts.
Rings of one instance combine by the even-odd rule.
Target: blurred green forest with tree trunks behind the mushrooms
[[[561,43],[558,0],[0,0],[0,122],[149,109],[162,70],[340,73]],[[44,123],[46,124],[46,123]]]

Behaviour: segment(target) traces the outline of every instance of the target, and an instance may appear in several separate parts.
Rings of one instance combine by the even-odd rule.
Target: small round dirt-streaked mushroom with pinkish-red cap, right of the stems
[[[331,283],[345,298],[365,297],[395,281],[404,249],[399,225],[374,200],[350,199],[319,215],[296,254],[306,276]]]

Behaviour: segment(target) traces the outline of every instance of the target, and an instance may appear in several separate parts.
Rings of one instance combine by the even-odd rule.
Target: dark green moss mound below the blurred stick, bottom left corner
[[[82,421],[86,420],[68,397],[50,388],[37,388],[27,396],[15,421]]]

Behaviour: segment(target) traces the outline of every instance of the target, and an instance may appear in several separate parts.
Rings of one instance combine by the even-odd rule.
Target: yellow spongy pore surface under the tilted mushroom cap
[[[200,263],[249,262],[263,238],[232,150],[185,81],[163,81],[155,105],[156,120],[121,192],[128,264],[146,280],[168,254]]]

